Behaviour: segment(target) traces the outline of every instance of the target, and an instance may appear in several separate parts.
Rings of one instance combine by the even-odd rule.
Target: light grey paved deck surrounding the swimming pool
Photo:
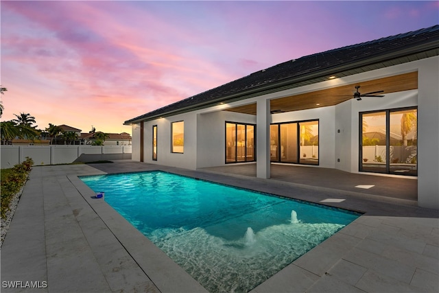
[[[254,293],[439,291],[439,211],[416,207],[410,193],[392,197],[401,184],[411,188],[413,179],[372,176],[377,177],[374,194],[349,189],[358,178],[361,184],[370,182],[358,174],[338,174],[345,187],[331,180],[319,186],[332,175],[295,182],[287,175],[276,177],[281,174],[273,166],[273,178],[264,180],[252,177],[251,167],[239,166],[245,165],[235,171],[132,161],[34,167],[1,247],[1,291],[206,292],[78,178],[155,169],[364,213]],[[8,281],[42,288],[5,288]]]

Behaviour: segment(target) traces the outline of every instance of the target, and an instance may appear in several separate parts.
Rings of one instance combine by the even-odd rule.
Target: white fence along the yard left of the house
[[[1,145],[1,169],[25,161],[34,165],[56,165],[75,161],[131,159],[131,145]]]

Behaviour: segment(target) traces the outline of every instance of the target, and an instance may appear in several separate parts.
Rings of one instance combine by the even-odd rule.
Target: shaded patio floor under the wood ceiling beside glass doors
[[[297,187],[319,191],[337,191],[374,198],[379,201],[403,202],[416,205],[418,200],[418,180],[411,176],[384,174],[355,174],[338,169],[285,164],[270,164],[270,180],[284,181]],[[202,168],[202,171],[256,177],[256,163],[233,164]]]

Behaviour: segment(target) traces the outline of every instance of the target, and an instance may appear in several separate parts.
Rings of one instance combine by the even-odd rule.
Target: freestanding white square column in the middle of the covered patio
[[[270,100],[257,102],[256,106],[256,176],[270,178]]]

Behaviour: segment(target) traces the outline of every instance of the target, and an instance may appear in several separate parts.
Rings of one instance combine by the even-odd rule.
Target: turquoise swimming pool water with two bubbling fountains
[[[359,217],[167,172],[82,176],[210,292],[248,292]]]

